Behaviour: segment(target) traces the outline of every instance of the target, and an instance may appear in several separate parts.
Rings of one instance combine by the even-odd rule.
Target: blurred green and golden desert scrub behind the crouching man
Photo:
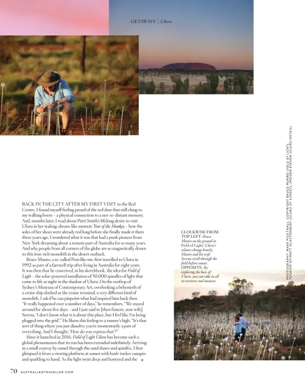
[[[122,124],[132,124],[129,110],[138,108],[138,36],[1,36],[0,82],[5,84],[2,134],[16,134],[18,127],[20,134],[26,134],[36,80],[46,70],[57,71],[72,89],[77,117],[84,117],[87,110],[93,113],[95,123],[101,113],[106,118],[112,112],[111,119],[115,119],[114,111],[122,113],[124,107]],[[9,115],[16,117],[8,121],[8,128],[4,115],[7,102]],[[81,127],[80,121],[76,125]],[[93,129],[97,126],[92,125]],[[34,134],[38,132],[36,129]]]

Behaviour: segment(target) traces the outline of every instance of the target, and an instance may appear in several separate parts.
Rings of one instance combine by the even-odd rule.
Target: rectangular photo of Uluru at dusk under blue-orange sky
[[[110,0],[139,35],[140,94],[253,94],[253,0]]]

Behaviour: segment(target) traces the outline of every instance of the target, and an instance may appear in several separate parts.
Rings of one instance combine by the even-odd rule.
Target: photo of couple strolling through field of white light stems
[[[305,360],[305,271],[217,273],[211,287],[175,271],[175,360]]]

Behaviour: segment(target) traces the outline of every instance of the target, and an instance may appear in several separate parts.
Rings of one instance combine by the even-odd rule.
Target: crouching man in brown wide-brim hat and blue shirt
[[[57,124],[59,105],[59,120],[60,126],[62,126],[61,134],[66,134],[69,125],[75,119],[75,109],[72,104],[75,101],[75,96],[71,88],[55,71],[43,72],[38,77],[37,83],[39,87],[35,91],[34,107],[34,111],[38,115],[36,117],[37,126],[41,127],[42,120],[43,125],[47,124],[48,109],[51,109],[51,125],[54,130]]]

